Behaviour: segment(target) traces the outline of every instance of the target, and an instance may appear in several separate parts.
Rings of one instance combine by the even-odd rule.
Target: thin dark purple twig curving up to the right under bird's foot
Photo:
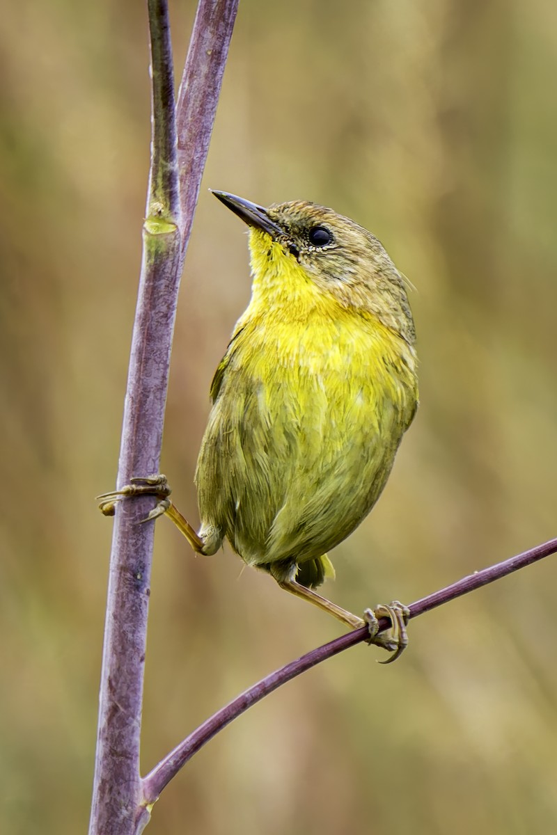
[[[501,579],[507,574],[512,574],[518,569],[525,568],[537,562],[539,559],[554,554],[557,551],[557,539],[550,539],[549,542],[537,545],[535,548],[524,551],[524,554],[518,554],[515,557],[505,559],[504,562],[492,565],[482,571],[477,571],[474,574],[469,574],[468,577],[458,580],[457,583],[448,585],[446,588],[433,592],[433,595],[423,597],[422,600],[417,600],[408,608],[410,609],[410,617],[416,618],[418,615],[423,615],[429,610],[435,609],[437,606],[448,603],[449,600],[455,600],[457,597],[467,595],[468,592],[481,588],[483,585],[493,583],[496,579]],[[380,629],[386,629],[389,625],[386,618],[380,621]],[[174,751],[171,751],[168,757],[154,767],[154,769],[144,778],[143,790],[144,795],[149,802],[154,802],[159,797],[160,792],[168,785],[170,780],[180,771],[180,768],[185,766],[185,763],[194,756],[206,742],[215,736],[219,731],[222,731],[225,726],[229,725],[231,721],[241,716],[256,702],[261,701],[265,696],[275,691],[278,687],[286,684],[286,681],[300,676],[301,673],[310,670],[316,664],[321,664],[327,658],[332,658],[343,650],[361,643],[368,637],[367,628],[353,630],[347,635],[342,635],[340,638],[330,641],[328,644],[317,647],[316,650],[311,650],[302,655],[296,661],[291,661],[290,664],[281,667],[266,676],[257,684],[250,687],[240,696],[237,696],[228,705],[217,711],[214,716],[200,725],[190,736],[180,742]]]

